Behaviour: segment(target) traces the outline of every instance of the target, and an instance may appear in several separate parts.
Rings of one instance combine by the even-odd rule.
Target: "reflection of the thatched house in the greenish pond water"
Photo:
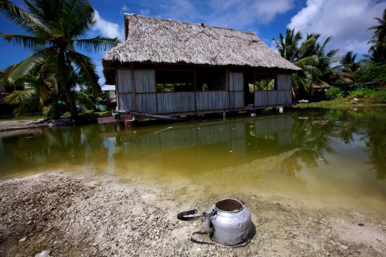
[[[292,117],[282,114],[140,128],[114,136],[125,160],[121,168],[147,172],[156,167],[183,176],[288,152],[295,148],[291,124]]]

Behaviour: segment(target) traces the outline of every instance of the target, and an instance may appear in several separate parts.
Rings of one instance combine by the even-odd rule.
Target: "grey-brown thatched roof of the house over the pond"
[[[103,62],[194,63],[300,70],[254,33],[125,13],[126,40]]]

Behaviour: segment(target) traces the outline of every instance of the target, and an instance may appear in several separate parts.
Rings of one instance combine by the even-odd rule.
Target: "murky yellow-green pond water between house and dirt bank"
[[[4,132],[0,167],[0,179],[59,170],[386,216],[386,108]]]

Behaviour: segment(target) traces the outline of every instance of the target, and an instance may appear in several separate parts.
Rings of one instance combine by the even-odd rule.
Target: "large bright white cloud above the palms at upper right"
[[[291,18],[288,28],[322,34],[320,40],[333,36],[328,50],[340,49],[367,53],[367,41],[373,32],[367,28],[376,24],[373,17],[382,17],[386,2],[376,0],[307,0],[307,6]]]

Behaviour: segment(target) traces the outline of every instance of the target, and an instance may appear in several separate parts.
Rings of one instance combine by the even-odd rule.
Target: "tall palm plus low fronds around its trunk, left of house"
[[[27,10],[0,1],[0,11],[23,28],[27,35],[1,33],[4,41],[33,50],[25,60],[6,68],[2,76],[5,86],[29,86],[14,91],[6,101],[17,104],[15,114],[41,110],[50,117],[59,117],[59,103],[78,117],[76,103],[92,106],[100,94],[96,65],[77,51],[106,51],[119,40],[97,36],[82,39],[95,24],[94,9],[85,0],[24,1]],[[75,91],[76,86],[82,91]],[[88,90],[88,91],[87,91]],[[94,101],[93,101],[94,98]]]

